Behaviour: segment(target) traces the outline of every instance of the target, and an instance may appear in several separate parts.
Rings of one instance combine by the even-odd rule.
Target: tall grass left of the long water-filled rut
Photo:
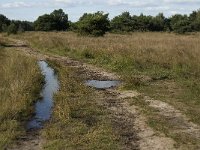
[[[0,149],[25,134],[23,122],[32,113],[42,81],[36,60],[5,47],[6,42],[0,38]]]

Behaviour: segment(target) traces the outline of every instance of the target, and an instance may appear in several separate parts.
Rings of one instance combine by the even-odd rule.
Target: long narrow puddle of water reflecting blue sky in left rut
[[[45,77],[45,84],[41,91],[42,99],[35,104],[35,115],[27,124],[27,130],[40,129],[43,123],[50,119],[53,107],[53,95],[59,89],[58,78],[54,70],[45,61],[39,61],[38,65]]]

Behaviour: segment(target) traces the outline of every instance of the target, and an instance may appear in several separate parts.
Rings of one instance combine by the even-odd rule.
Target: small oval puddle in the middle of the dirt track
[[[86,85],[97,88],[97,89],[108,89],[108,88],[116,87],[119,84],[120,84],[120,81],[99,81],[99,80],[86,81]]]

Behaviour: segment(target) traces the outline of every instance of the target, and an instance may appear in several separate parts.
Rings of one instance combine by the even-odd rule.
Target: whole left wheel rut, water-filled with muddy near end
[[[53,96],[59,90],[59,82],[53,68],[47,62],[38,61],[44,76],[44,85],[40,93],[41,98],[35,103],[34,115],[26,123],[26,135],[19,137],[12,150],[38,150],[41,149],[42,139],[39,135],[46,121],[50,120],[53,108]]]

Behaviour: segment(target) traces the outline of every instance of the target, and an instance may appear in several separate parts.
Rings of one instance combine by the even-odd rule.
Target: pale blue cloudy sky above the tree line
[[[200,0],[0,0],[0,14],[15,20],[34,21],[60,8],[71,21],[77,21],[85,12],[96,11],[109,13],[111,19],[124,11],[152,16],[162,12],[168,17],[198,10]]]

